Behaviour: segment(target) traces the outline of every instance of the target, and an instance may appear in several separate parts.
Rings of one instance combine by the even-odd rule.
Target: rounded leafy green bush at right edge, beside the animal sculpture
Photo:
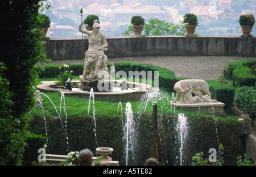
[[[243,86],[236,88],[234,103],[238,108],[250,115],[251,119],[256,117],[256,88]]]

